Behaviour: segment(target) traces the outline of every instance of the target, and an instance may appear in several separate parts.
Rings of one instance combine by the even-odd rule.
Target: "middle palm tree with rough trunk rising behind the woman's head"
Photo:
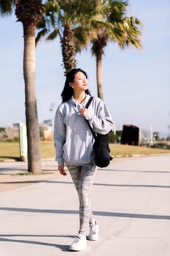
[[[41,37],[60,38],[65,74],[76,67],[76,54],[88,44],[88,28],[97,17],[98,1],[48,0],[36,42]],[[52,30],[52,32],[51,32]]]

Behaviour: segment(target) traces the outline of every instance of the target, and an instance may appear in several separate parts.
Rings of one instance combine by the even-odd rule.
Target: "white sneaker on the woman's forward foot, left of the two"
[[[82,249],[85,249],[87,246],[87,240],[85,235],[78,234],[74,241],[72,242],[71,246],[69,247],[70,251],[82,251]]]

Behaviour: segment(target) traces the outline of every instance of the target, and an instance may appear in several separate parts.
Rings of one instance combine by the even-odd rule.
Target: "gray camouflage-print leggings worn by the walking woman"
[[[90,194],[93,185],[93,178],[96,173],[96,165],[93,163],[85,165],[67,165],[72,181],[77,189],[80,201],[80,230],[85,235],[89,223],[95,222],[91,210]]]

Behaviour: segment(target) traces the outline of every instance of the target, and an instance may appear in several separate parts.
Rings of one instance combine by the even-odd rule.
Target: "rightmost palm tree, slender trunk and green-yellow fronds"
[[[98,24],[91,39],[92,54],[96,56],[96,79],[98,97],[104,99],[103,86],[101,79],[101,64],[102,56],[104,55],[104,48],[107,42],[117,42],[120,48],[124,49],[130,45],[136,48],[141,47],[140,43],[140,29],[141,22],[134,17],[126,17],[127,2],[122,0],[109,0],[106,1],[106,12],[104,23]]]

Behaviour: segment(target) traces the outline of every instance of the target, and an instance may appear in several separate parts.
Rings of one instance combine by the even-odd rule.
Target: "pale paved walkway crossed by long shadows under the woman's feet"
[[[69,252],[77,206],[69,175],[2,192],[0,255],[169,256],[170,156],[113,161],[98,170],[93,211],[100,239],[88,241],[83,252]]]

